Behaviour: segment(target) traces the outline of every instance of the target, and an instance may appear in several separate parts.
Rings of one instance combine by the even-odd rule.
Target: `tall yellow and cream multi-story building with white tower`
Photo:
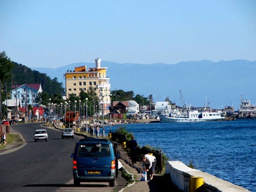
[[[111,103],[109,77],[107,77],[108,67],[100,67],[100,59],[95,59],[95,67],[86,66],[75,67],[74,71],[65,73],[66,98],[72,93],[79,96],[81,90],[87,92],[90,86],[97,93],[100,104],[104,106],[104,114],[108,113],[108,106]]]

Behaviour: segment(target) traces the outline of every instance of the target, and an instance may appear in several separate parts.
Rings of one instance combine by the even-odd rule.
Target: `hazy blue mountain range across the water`
[[[47,76],[58,78],[65,87],[63,75],[67,70],[95,63],[72,63],[58,68],[32,68]],[[221,109],[224,106],[239,108],[241,95],[256,103],[256,61],[232,60],[212,62],[186,61],[177,64],[139,64],[101,61],[101,67],[108,67],[111,90],[133,91],[148,97],[154,95],[154,102],[166,97],[179,106]]]

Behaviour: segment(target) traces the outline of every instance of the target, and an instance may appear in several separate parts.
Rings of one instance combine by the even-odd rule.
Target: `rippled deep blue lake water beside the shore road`
[[[140,147],[161,148],[170,161],[191,162],[202,172],[256,191],[256,119],[121,126],[134,134]]]

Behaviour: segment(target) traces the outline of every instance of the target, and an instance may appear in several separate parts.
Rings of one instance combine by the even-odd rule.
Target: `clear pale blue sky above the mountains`
[[[256,1],[1,0],[0,51],[27,67],[256,60]]]

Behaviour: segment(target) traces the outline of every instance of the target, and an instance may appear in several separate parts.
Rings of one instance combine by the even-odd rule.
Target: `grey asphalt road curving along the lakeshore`
[[[12,125],[12,132],[19,132],[25,145],[19,150],[0,156],[1,191],[116,191],[125,186],[109,187],[106,182],[73,185],[72,158],[74,146],[81,136],[61,140],[61,132],[44,127],[49,140],[34,141],[33,132],[42,124]]]

